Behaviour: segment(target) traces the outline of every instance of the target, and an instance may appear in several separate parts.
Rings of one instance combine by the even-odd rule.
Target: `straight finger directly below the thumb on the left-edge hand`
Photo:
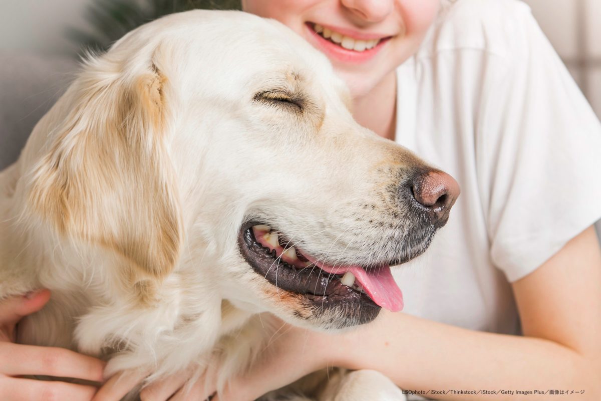
[[[0,371],[7,376],[46,375],[102,382],[105,362],[59,347],[0,343]]]

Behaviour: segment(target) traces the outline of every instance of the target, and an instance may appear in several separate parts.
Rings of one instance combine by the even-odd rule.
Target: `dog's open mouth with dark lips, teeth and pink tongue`
[[[242,226],[239,248],[246,262],[278,289],[303,295],[322,307],[361,304],[391,311],[403,308],[403,295],[387,264],[329,265],[258,222]]]

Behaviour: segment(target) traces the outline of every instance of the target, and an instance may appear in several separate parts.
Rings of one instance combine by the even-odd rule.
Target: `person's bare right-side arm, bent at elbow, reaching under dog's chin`
[[[236,378],[219,401],[253,400],[326,366],[374,369],[405,390],[584,390],[599,400],[601,253],[594,228],[570,240],[513,284],[523,337],[471,331],[382,311],[346,334],[287,328],[271,355]],[[366,344],[369,344],[366,346]],[[439,399],[548,399],[543,395],[453,395]]]

